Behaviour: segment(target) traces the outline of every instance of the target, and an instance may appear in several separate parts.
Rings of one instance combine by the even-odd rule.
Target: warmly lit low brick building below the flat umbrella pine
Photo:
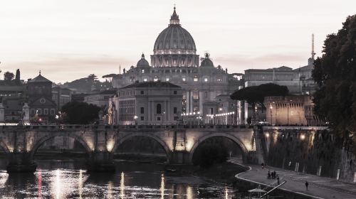
[[[266,122],[274,125],[318,126],[323,122],[313,114],[311,95],[265,97]],[[324,123],[325,124],[325,123]]]

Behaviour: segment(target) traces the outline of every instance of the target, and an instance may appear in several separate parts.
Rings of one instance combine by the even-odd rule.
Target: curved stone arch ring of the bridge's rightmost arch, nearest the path
[[[193,162],[194,152],[198,148],[198,146],[203,141],[205,141],[206,139],[209,139],[211,137],[225,137],[227,139],[230,139],[231,141],[234,141],[241,149],[243,160],[246,161],[246,154],[248,153],[248,149],[246,148],[245,144],[239,138],[237,138],[236,136],[233,136],[231,134],[216,132],[216,133],[207,134],[205,136],[202,136],[197,141],[195,141],[194,145],[192,146],[192,149],[190,149],[190,151],[189,151],[189,161],[190,162]]]

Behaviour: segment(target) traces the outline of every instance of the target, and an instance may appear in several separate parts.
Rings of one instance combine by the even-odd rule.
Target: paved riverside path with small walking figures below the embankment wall
[[[230,160],[233,163],[239,163]],[[261,183],[269,185],[273,183],[272,179],[267,179],[268,170],[276,171],[280,176],[281,182],[286,180],[287,183],[281,186],[281,189],[293,191],[303,195],[308,195],[312,198],[336,198],[336,199],[355,199],[356,198],[356,184],[342,183],[333,178],[323,178],[313,176],[305,173],[296,173],[294,171],[287,171],[281,168],[274,168],[267,166],[264,169],[257,165],[247,165],[251,170],[244,173],[239,173],[236,178],[241,178],[246,181],[253,181],[254,183]],[[305,181],[308,181],[308,190],[305,190]]]

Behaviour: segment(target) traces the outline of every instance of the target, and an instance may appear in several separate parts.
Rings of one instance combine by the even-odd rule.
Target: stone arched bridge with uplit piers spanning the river
[[[162,145],[169,164],[192,163],[202,141],[215,136],[231,139],[242,151],[245,162],[261,161],[258,136],[253,129],[238,126],[0,126],[0,146],[8,158],[8,172],[33,172],[33,156],[48,139],[67,136],[80,142],[89,155],[88,171],[115,170],[113,154],[120,144],[135,136],[150,137]]]

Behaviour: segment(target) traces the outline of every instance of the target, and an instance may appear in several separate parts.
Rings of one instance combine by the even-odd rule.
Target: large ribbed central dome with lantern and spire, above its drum
[[[154,54],[195,54],[194,39],[190,33],[179,24],[179,16],[175,7],[169,26],[156,39]]]

